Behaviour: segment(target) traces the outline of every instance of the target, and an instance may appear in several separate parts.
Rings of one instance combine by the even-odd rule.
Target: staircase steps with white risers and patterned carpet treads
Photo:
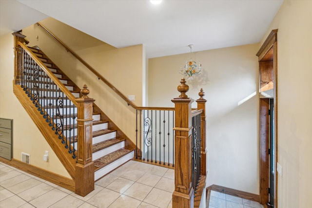
[[[79,97],[80,89],[78,86],[69,79],[39,48],[28,47],[42,62],[46,67],[56,76],[59,81],[74,95],[76,98]],[[35,63],[28,63],[35,64]],[[31,75],[33,73],[29,73]],[[28,75],[27,75],[28,76]],[[39,76],[44,76],[39,74]],[[33,78],[32,78],[33,79]],[[46,96],[51,99],[51,102],[39,103],[41,108],[44,108],[45,112],[53,111],[53,114],[56,114],[58,105],[58,97],[63,96],[60,94],[59,87],[54,83],[47,81],[47,79],[39,79],[39,93],[40,96]],[[44,90],[43,86],[48,86],[49,89],[53,89],[52,95],[51,92]],[[30,86],[30,87],[33,87]],[[122,133],[116,125],[95,105],[93,104],[93,126],[92,126],[92,160],[95,166],[95,181],[103,177],[110,171],[116,169],[125,162],[131,160],[134,157],[134,146],[129,138],[127,138],[124,133]],[[68,107],[68,109],[67,109]],[[69,141],[71,147],[64,148],[64,154],[68,154],[67,149],[70,153],[74,152],[73,158],[75,159],[75,151],[77,151],[77,123],[71,121],[72,118],[77,117],[77,107],[74,111],[71,111],[69,108],[72,107],[69,99],[64,99],[62,103],[62,108],[59,111],[60,115],[52,117],[52,123],[55,121],[57,123],[59,117],[64,117],[65,123],[63,135],[70,135]],[[69,113],[69,114],[68,114]],[[44,116],[43,116],[44,117]],[[48,121],[48,116],[46,116],[46,122]],[[50,121],[51,122],[51,121]],[[72,123],[71,123],[72,122]],[[73,125],[74,124],[74,125]],[[55,128],[55,124],[52,128]],[[50,126],[51,126],[50,125]],[[76,135],[76,136],[75,136]],[[61,137],[59,137],[61,139]],[[62,138],[63,139],[63,138]],[[66,138],[67,139],[67,138]],[[63,142],[63,141],[62,141]],[[63,143],[64,144],[64,143]],[[76,148],[76,149],[75,149]]]

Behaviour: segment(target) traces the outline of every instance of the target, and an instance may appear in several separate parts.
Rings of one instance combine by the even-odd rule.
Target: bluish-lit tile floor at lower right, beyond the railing
[[[212,190],[210,192],[209,208],[263,208],[263,206],[258,202]]]

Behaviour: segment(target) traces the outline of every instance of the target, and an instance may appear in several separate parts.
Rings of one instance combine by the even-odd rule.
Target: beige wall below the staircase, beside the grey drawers
[[[21,160],[21,152],[30,154],[30,164],[70,178],[58,157],[13,94],[13,36],[0,37],[0,117],[13,119],[13,158]],[[48,162],[43,154],[49,151]]]

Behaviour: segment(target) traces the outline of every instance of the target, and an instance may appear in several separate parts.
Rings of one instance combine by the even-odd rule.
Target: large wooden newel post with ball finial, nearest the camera
[[[173,208],[193,208],[194,189],[192,187],[192,107],[194,100],[185,93],[189,86],[181,79],[177,90],[179,97],[175,103],[175,191],[172,195]]]

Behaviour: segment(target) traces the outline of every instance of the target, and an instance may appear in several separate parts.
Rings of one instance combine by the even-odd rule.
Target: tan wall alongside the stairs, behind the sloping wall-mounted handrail
[[[78,56],[90,64],[123,95],[135,95],[134,103],[137,106],[142,106],[142,80],[145,70],[143,45],[117,49],[55,19],[48,18],[40,23],[57,35],[72,50],[75,50]],[[135,141],[136,112],[131,106],[128,106],[119,95],[98,80],[97,76],[36,24],[24,28],[23,35],[27,36],[30,46],[39,46],[78,87],[82,88],[86,84],[90,90],[89,97],[94,98],[100,109],[128,137]],[[37,37],[39,38],[37,39]]]

